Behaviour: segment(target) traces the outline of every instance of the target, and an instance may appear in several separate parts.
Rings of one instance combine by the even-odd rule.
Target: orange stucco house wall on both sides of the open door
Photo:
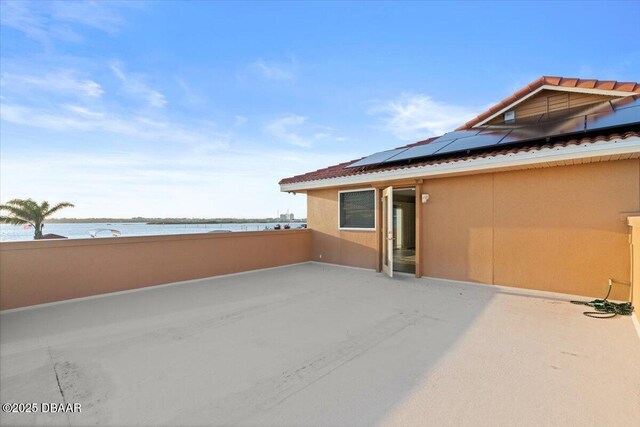
[[[312,258],[375,268],[374,233],[338,230],[337,191],[308,193]],[[609,277],[629,281],[621,214],[640,211],[637,159],[425,178],[422,193],[423,276],[590,297]],[[612,298],[628,299],[629,287]]]

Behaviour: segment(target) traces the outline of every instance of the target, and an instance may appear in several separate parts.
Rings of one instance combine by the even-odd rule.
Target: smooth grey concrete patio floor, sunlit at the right
[[[640,339],[569,296],[315,263],[0,316],[3,425],[633,425]]]

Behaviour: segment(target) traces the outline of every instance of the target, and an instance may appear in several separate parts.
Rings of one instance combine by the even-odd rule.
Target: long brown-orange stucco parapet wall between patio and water
[[[310,230],[0,243],[0,309],[310,260]]]

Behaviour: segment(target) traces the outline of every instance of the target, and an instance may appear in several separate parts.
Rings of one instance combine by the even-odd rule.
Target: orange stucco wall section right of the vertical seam
[[[629,227],[640,209],[640,162],[495,174],[495,283],[603,297],[629,282]],[[616,299],[629,286],[616,285]]]

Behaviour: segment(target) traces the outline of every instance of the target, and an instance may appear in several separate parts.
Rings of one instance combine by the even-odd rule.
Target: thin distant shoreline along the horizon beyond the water
[[[149,225],[182,225],[182,224],[263,224],[263,223],[305,223],[306,218],[283,221],[279,218],[51,218],[49,224],[84,224],[84,223],[140,223]]]

